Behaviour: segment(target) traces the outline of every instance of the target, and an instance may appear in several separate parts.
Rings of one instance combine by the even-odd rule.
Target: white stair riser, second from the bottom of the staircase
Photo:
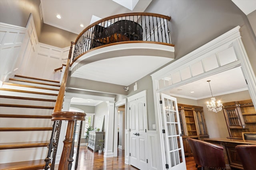
[[[2,131],[0,143],[50,141],[52,131]]]

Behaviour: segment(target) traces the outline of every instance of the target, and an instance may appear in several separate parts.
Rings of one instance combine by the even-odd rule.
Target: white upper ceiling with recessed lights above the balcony
[[[90,25],[93,15],[99,18],[106,18],[116,14],[144,12],[152,0],[139,0],[138,3],[134,3],[134,0],[122,0],[121,2],[127,2],[126,4],[121,3],[122,5],[118,4],[120,0],[116,1],[41,0],[44,23],[80,34],[83,29]],[[134,9],[130,10],[123,5],[128,5],[128,8]],[[58,19],[56,15],[60,15],[61,19]],[[83,24],[84,27],[80,27],[80,24]]]

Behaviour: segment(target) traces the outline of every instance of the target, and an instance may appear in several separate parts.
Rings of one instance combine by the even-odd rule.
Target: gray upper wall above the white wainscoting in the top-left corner
[[[0,0],[0,22],[26,27],[32,13],[37,37],[40,37],[43,20],[40,17],[39,4],[40,0]]]

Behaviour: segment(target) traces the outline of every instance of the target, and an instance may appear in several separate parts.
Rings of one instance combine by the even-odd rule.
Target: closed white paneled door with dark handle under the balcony
[[[145,97],[132,100],[130,109],[130,164],[140,170],[148,169],[147,113]]]

